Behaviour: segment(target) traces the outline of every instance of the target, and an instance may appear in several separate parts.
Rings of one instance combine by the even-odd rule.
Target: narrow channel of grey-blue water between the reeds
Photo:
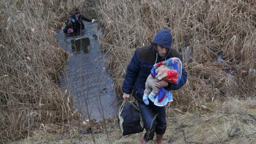
[[[106,59],[99,51],[99,24],[84,22],[84,25],[85,29],[79,34],[57,32],[58,44],[72,54],[59,87],[68,90],[76,110],[87,119],[111,118],[117,112],[116,96],[105,68]]]

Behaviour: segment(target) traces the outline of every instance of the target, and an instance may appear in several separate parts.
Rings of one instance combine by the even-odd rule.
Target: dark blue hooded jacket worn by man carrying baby
[[[156,45],[165,46],[168,50],[164,57],[160,57],[157,53]],[[160,30],[153,42],[150,45],[140,47],[136,49],[133,58],[127,67],[125,80],[123,82],[123,92],[131,94],[133,97],[143,103],[143,93],[145,90],[145,82],[150,70],[155,63],[165,61],[177,57],[182,61],[182,55],[179,54],[175,49],[172,49],[172,35],[168,29]],[[184,67],[182,68],[182,76],[178,84],[168,83],[165,87],[166,90],[177,90],[180,89],[187,81],[187,72]]]

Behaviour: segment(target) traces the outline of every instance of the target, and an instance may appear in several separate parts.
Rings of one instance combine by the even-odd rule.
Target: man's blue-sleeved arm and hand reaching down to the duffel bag
[[[133,54],[133,58],[127,67],[126,76],[123,81],[123,99],[129,98],[133,91],[133,85],[140,71],[140,56],[138,50]]]

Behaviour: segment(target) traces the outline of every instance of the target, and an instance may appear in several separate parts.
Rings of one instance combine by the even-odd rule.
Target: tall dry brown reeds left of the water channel
[[[60,79],[68,54],[54,31],[83,8],[84,0],[0,1],[0,142],[30,136],[34,130],[69,130],[74,115],[70,95],[52,81]]]

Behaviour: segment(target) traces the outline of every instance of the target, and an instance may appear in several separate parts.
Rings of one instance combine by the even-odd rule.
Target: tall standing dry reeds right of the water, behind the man
[[[98,14],[118,95],[135,49],[160,29],[170,29],[188,73],[172,105],[256,95],[255,0],[99,0]]]

